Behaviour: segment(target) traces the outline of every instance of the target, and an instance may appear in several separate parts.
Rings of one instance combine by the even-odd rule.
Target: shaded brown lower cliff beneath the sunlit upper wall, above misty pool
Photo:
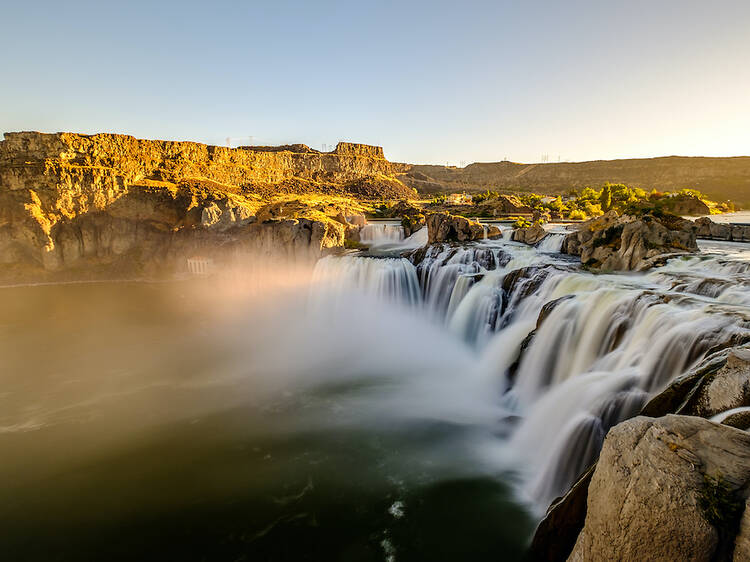
[[[253,207],[221,191],[200,195],[183,184],[170,191],[131,188],[106,210],[57,221],[41,249],[6,238],[0,256],[11,267],[3,273],[28,279],[78,271],[85,277],[110,267],[118,275],[159,275],[184,269],[193,254],[217,262],[238,253],[299,261],[343,246],[346,225],[310,209],[279,207]]]

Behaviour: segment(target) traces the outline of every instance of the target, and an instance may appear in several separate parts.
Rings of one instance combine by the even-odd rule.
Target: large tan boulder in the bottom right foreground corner
[[[750,434],[689,416],[628,420],[604,441],[569,560],[728,559],[749,484]]]

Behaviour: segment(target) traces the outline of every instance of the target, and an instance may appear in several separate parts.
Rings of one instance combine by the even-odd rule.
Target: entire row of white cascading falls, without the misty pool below
[[[704,245],[710,255],[645,275],[593,275],[559,255],[563,237],[433,245],[409,253],[416,267],[328,257],[315,271],[337,291],[421,307],[474,348],[466,371],[496,392],[505,458],[539,513],[596,459],[611,426],[750,325],[750,252]]]

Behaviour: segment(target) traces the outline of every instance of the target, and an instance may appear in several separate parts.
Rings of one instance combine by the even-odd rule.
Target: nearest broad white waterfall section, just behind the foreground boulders
[[[506,396],[524,418],[512,447],[522,458],[536,455],[525,492],[539,507],[564,493],[596,456],[583,451],[598,452],[596,427],[606,432],[637,414],[736,329],[729,316],[634,288],[561,301],[536,330]]]

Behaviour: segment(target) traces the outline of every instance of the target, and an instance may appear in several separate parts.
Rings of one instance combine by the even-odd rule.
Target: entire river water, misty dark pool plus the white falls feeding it
[[[252,293],[0,289],[0,552],[519,559],[609,427],[748,328],[750,245],[595,275],[560,233],[399,229]]]

